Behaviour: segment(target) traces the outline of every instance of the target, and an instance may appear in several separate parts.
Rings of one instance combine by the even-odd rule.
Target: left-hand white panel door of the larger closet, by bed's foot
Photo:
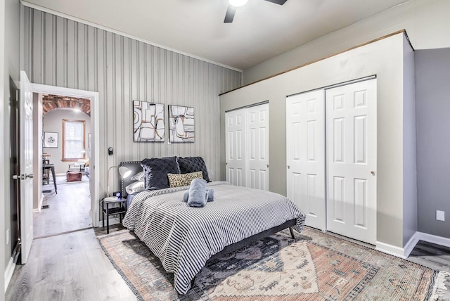
[[[286,99],[287,192],[307,214],[306,224],[326,229],[324,91]]]

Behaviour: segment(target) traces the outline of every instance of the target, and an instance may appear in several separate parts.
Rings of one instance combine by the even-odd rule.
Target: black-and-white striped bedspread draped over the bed
[[[304,214],[288,198],[228,182],[211,182],[214,202],[189,207],[183,202],[188,186],[143,191],[131,203],[123,224],[174,273],[174,287],[185,294],[191,280],[212,255],[244,238],[297,219],[302,231]]]

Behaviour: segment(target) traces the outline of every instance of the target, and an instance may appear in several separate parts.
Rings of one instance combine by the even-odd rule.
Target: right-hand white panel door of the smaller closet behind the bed
[[[245,109],[247,186],[269,190],[269,103]]]

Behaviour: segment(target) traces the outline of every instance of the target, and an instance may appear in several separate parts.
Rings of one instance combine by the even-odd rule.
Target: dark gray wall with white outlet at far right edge
[[[450,238],[449,48],[416,51],[416,108],[418,231]]]

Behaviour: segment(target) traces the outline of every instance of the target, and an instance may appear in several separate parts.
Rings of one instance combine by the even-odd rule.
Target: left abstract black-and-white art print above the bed
[[[164,105],[133,101],[133,141],[164,142]]]

